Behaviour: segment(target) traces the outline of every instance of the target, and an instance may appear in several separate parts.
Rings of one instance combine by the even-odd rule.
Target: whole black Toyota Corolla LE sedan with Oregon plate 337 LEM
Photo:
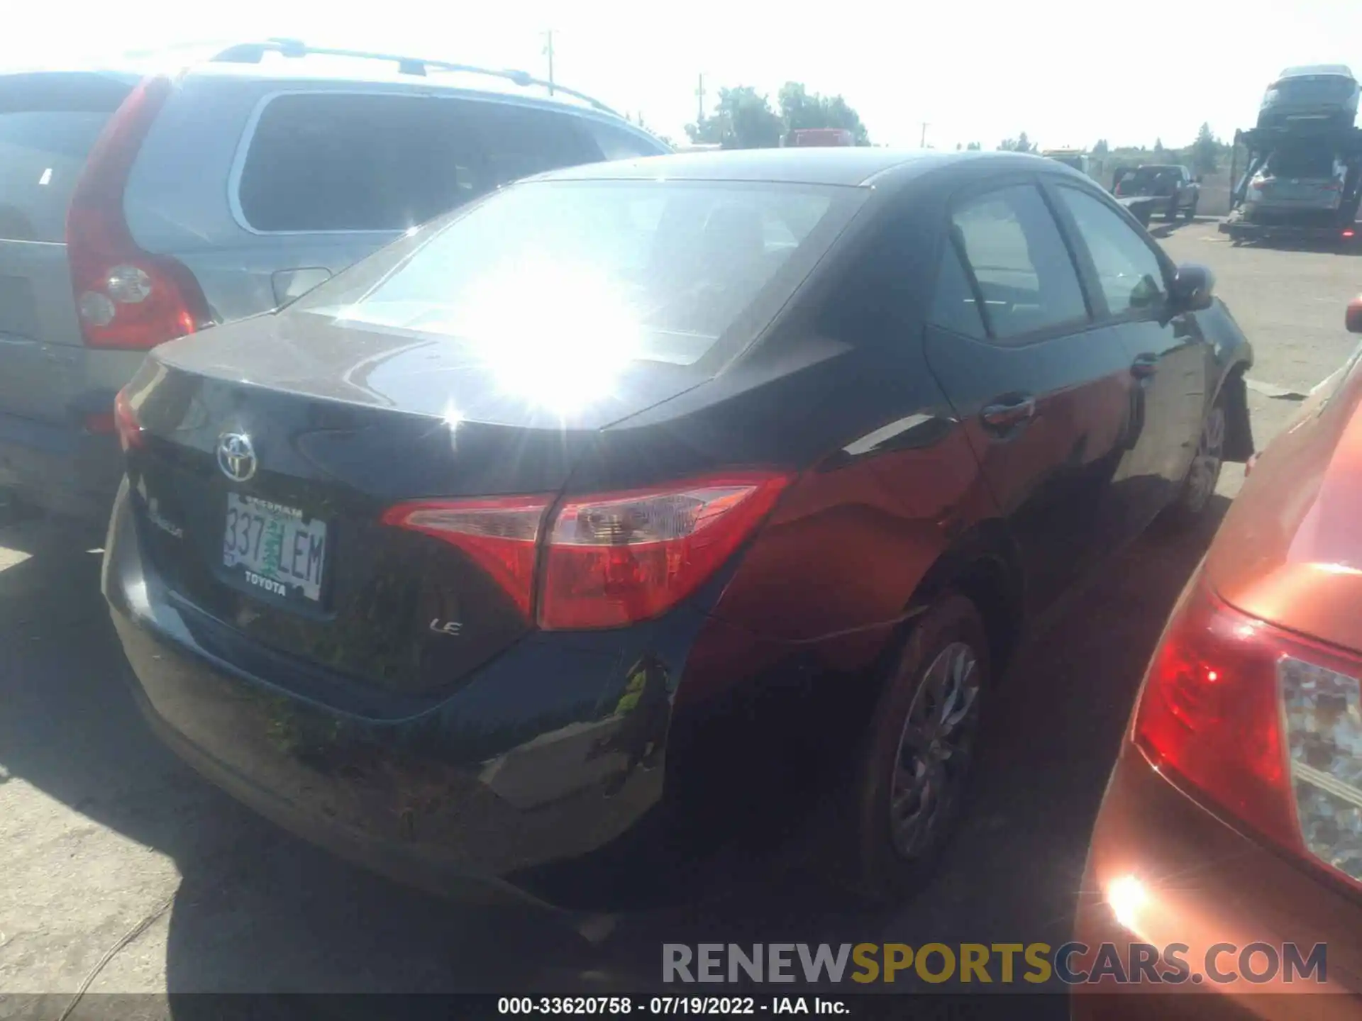
[[[817,802],[899,896],[1027,619],[1252,453],[1211,289],[1035,157],[504,188],[120,395],[133,690],[214,781],[429,889],[571,896]]]

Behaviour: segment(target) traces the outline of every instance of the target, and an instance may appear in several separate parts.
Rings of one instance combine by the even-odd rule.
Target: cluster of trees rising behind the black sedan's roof
[[[858,146],[869,146],[870,135],[861,116],[840,95],[810,93],[799,82],[786,82],[776,105],[752,86],[719,90],[712,114],[685,125],[692,143],[725,148],[774,148],[791,131],[804,128],[846,128]]]

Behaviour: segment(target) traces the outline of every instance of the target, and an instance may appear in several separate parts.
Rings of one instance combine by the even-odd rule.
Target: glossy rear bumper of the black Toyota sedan
[[[458,897],[520,888],[571,901],[557,893],[564,874],[576,889],[656,843],[674,679],[703,614],[530,636],[426,708],[369,719],[210,651],[221,647],[143,558],[129,502],[125,483],[104,592],[136,698],[174,751],[260,814]]]

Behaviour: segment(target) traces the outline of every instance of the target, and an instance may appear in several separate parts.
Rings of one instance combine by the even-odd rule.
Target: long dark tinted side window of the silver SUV
[[[406,230],[519,177],[601,159],[582,118],[428,95],[281,95],[238,199],[260,231]]]

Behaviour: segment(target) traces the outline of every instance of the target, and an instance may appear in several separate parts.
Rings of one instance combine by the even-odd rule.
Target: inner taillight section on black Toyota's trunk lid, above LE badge
[[[552,501],[553,497],[418,501],[388,508],[383,523],[433,535],[463,550],[528,618],[535,546]]]

